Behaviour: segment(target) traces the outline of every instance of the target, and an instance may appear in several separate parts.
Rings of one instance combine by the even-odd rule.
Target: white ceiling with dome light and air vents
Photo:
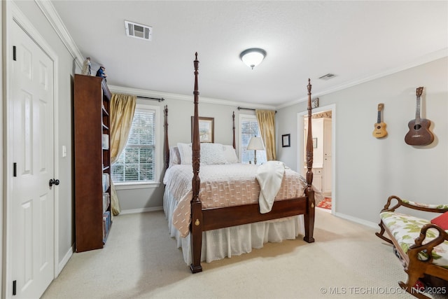
[[[448,55],[448,1],[52,1],[108,84],[286,106]],[[125,20],[153,27],[152,41]],[[250,69],[239,53],[263,48]],[[97,71],[93,69],[92,71]],[[319,77],[337,76],[323,81]]]

